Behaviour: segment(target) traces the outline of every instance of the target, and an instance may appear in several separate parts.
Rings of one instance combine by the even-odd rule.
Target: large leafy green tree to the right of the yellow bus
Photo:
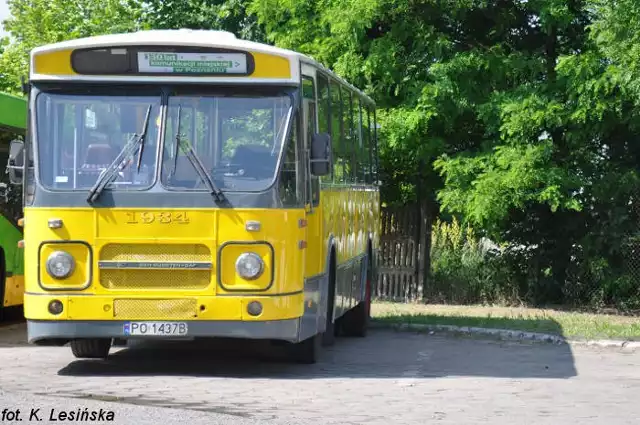
[[[386,201],[415,198],[422,180],[442,212],[532,248],[513,265],[533,276],[523,295],[563,302],[620,277],[634,227],[640,14],[598,1],[254,0],[251,11],[270,40],[376,99]]]

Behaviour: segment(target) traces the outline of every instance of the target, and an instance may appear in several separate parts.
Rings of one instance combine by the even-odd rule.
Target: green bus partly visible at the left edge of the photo
[[[10,142],[24,139],[26,125],[26,100],[0,93],[0,319],[21,310],[24,299],[24,253],[18,247],[22,240],[22,188],[9,182],[5,167]]]

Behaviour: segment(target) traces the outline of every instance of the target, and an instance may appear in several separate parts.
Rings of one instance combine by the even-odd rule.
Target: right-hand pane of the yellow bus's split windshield
[[[194,164],[199,160],[221,190],[267,189],[276,176],[292,105],[287,93],[250,89],[169,97],[162,184],[169,190],[207,190]]]

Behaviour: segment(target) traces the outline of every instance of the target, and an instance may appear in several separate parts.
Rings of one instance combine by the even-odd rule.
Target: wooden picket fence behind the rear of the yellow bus
[[[374,297],[402,302],[422,299],[431,245],[431,226],[424,210],[418,205],[383,208],[380,218],[379,273]]]

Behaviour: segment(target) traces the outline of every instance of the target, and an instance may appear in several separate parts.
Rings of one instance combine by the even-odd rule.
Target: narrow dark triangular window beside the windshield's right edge
[[[291,134],[285,147],[282,172],[278,185],[280,200],[285,208],[297,207],[302,204],[304,199],[304,186],[298,183],[298,177],[302,174],[298,171],[300,164],[298,140],[298,121],[296,117],[293,117]]]

